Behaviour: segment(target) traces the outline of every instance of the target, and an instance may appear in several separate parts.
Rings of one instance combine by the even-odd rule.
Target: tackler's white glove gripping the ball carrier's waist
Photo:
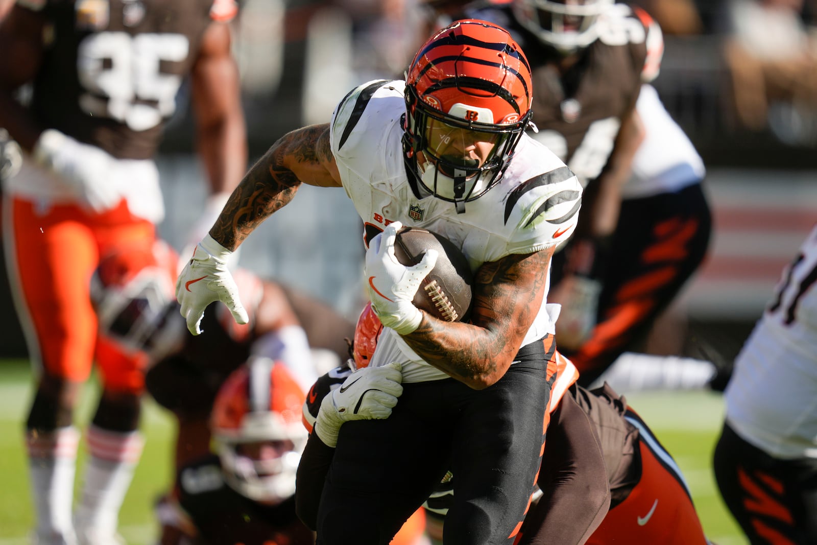
[[[394,362],[382,367],[364,367],[351,373],[339,388],[320,402],[315,432],[327,446],[337,446],[343,422],[389,418],[397,398],[403,393],[403,365]]]

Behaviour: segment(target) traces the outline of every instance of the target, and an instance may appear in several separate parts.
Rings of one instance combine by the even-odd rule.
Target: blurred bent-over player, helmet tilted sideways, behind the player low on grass
[[[306,390],[319,373],[346,360],[343,339],[354,334],[354,324],[323,303],[239,269],[234,278],[248,324],[235,324],[225,306],[213,305],[202,322],[208,334],[194,337],[172,293],[177,263],[162,241],[113,252],[100,260],[91,289],[100,336],[145,355],[147,391],[176,417],[176,477],[210,453],[213,403],[230,373],[252,358],[275,360]],[[301,326],[298,315],[309,321]],[[339,342],[324,343],[329,337]]]

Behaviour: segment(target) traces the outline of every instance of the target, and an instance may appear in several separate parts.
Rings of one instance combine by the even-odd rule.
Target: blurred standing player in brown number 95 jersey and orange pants
[[[38,543],[76,542],[73,415],[95,356],[103,392],[75,524],[79,543],[116,542],[141,453],[144,361],[97,342],[88,281],[100,255],[154,237],[164,211],[152,157],[188,76],[212,202],[243,174],[235,11],[231,0],[20,0],[0,23],[0,127],[25,151],[4,181],[3,237],[37,380],[25,430]]]

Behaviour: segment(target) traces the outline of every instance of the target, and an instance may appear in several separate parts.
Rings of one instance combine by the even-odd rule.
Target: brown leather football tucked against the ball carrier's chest
[[[447,322],[467,319],[471,310],[471,267],[462,251],[443,235],[417,227],[404,227],[397,233],[395,257],[405,266],[417,265],[428,249],[439,257],[422,280],[413,303],[435,318]]]

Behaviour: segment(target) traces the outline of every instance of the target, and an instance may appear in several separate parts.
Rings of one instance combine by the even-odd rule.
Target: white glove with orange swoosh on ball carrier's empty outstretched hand
[[[239,288],[225,265],[231,253],[206,235],[176,279],[176,300],[181,305],[181,315],[187,320],[187,328],[194,335],[201,333],[199,325],[204,309],[215,301],[223,302],[237,323],[246,324],[249,320],[239,299]]]

